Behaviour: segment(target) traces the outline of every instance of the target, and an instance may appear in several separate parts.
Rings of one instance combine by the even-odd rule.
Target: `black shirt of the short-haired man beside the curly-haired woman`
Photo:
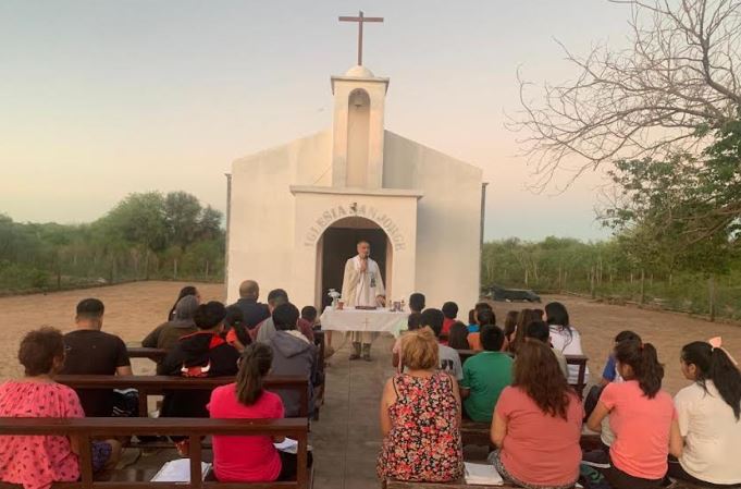
[[[121,338],[96,330],[76,330],[64,335],[67,346],[62,374],[115,375],[118,367],[131,365],[128,351]],[[78,389],[77,395],[85,416],[110,416],[113,391]]]

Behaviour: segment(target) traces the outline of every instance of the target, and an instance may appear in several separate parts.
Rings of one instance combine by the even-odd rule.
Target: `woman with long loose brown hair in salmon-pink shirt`
[[[520,487],[572,488],[579,478],[583,416],[551,347],[526,341],[515,359],[512,384],[494,408],[491,439],[498,450],[490,460],[505,480]]]

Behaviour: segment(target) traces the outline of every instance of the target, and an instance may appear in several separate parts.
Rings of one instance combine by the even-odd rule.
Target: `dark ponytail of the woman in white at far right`
[[[684,345],[681,354],[687,365],[696,368],[695,381],[707,392],[707,380],[718,390],[720,398],[733,409],[733,416],[741,418],[741,371],[726,351],[704,341]]]

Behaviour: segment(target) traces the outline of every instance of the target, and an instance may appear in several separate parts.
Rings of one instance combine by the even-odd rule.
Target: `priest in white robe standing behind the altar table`
[[[342,284],[342,298],[351,307],[385,306],[386,290],[383,286],[381,269],[370,257],[370,243],[358,242],[358,254],[345,264],[345,277]],[[376,333],[372,331],[350,331],[353,353],[350,359],[360,358],[370,362],[370,345]]]

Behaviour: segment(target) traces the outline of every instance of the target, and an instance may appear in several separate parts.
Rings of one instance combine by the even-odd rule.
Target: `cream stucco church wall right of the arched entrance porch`
[[[481,169],[390,131],[384,187],[423,192],[417,209],[416,288],[428,306],[454,301],[465,318],[479,298]]]

